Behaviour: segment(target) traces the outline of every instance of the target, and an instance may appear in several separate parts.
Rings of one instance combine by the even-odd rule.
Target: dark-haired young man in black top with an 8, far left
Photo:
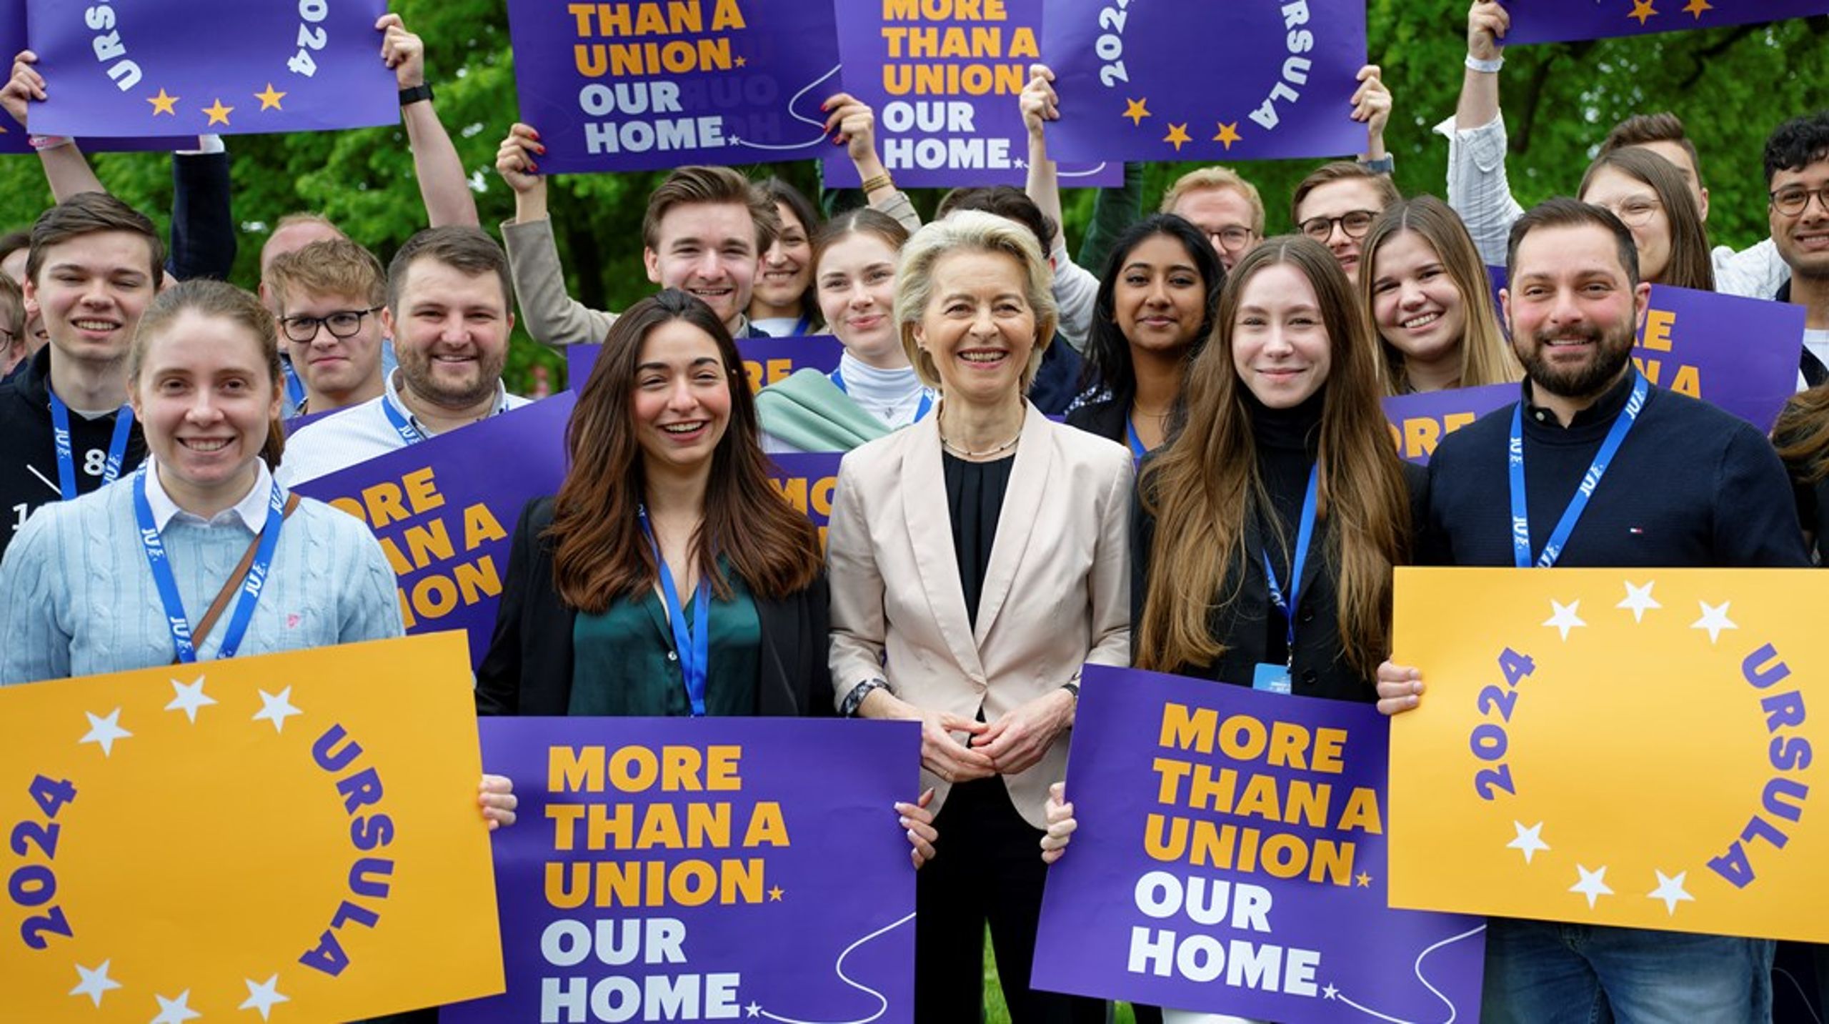
[[[144,457],[123,408],[126,355],[163,263],[152,221],[106,192],[77,194],[33,225],[24,294],[49,344],[0,386],[0,552],[40,505],[88,494]]]

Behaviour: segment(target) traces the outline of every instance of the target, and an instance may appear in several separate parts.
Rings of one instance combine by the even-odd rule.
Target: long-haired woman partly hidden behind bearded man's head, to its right
[[[1714,291],[1708,232],[1677,165],[1644,146],[1624,146],[1588,165],[1577,197],[1606,207],[1631,230],[1641,282]]]

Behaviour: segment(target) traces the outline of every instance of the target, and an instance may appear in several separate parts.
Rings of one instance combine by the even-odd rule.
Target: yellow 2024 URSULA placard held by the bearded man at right
[[[1394,907],[1829,940],[1829,574],[1399,569]]]

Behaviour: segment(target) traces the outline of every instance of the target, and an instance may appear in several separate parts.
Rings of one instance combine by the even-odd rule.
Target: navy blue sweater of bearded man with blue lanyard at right
[[[1524,479],[1531,554],[1575,497],[1631,375],[1567,428],[1529,404]],[[1505,406],[1441,439],[1428,463],[1423,558],[1434,565],[1513,565]],[[1796,503],[1770,443],[1706,402],[1652,388],[1639,422],[1556,560],[1562,567],[1805,567]]]

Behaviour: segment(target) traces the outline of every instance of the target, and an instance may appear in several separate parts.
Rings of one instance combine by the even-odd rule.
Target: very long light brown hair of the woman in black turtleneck
[[[1233,333],[1251,278],[1278,263],[1308,278],[1328,329],[1317,510],[1328,523],[1326,565],[1339,578],[1341,649],[1366,677],[1388,653],[1392,565],[1408,558],[1410,503],[1379,411],[1372,340],[1333,254],[1310,238],[1284,236],[1266,240],[1233,267],[1213,340],[1187,371],[1187,426],[1143,468],[1139,492],[1156,532],[1136,631],[1138,667],[1211,666],[1225,653],[1211,614],[1238,598],[1246,516],[1269,507],[1249,391],[1233,368]]]

